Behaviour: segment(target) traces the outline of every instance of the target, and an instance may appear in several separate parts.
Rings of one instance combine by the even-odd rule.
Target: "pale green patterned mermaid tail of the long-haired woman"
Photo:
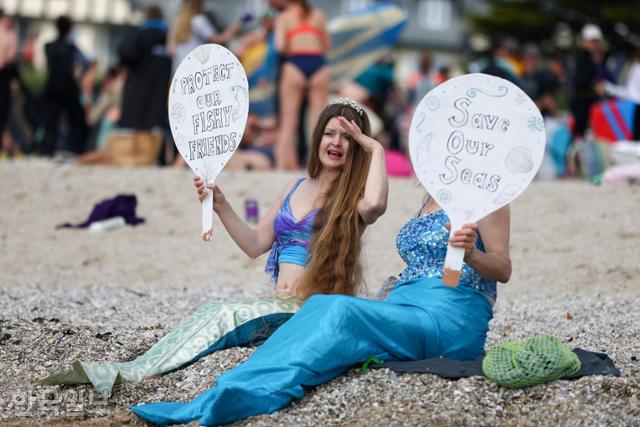
[[[301,300],[287,296],[252,302],[211,302],[199,307],[135,360],[76,361],[71,370],[51,375],[41,383],[90,383],[105,396],[110,396],[115,384],[166,374],[225,348],[257,344],[271,335],[301,305]]]

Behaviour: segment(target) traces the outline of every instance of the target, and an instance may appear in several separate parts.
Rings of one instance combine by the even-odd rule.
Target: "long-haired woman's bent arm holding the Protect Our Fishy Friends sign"
[[[198,196],[202,201],[206,195],[205,186],[200,177],[194,178],[194,185],[197,188]],[[251,258],[256,258],[267,252],[275,240],[273,230],[273,220],[275,219],[280,205],[284,200],[284,195],[293,187],[291,182],[278,196],[276,202],[271,206],[267,214],[260,219],[255,229],[245,223],[233,210],[226,200],[224,193],[216,184],[208,184],[208,191],[213,191],[213,210],[216,212],[222,225],[227,230],[234,242]]]

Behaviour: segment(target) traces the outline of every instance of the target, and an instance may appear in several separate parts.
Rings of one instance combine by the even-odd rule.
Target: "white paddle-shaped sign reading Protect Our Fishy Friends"
[[[213,183],[240,144],[249,113],[249,84],[226,48],[204,44],[180,63],[169,88],[169,124],[180,155]],[[202,238],[211,240],[213,196],[202,202]]]

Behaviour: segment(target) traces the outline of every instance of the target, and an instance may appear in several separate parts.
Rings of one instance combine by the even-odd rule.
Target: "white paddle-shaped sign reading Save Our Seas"
[[[533,180],[545,129],[535,103],[511,82],[467,74],[418,104],[409,131],[416,176],[444,209],[451,230],[508,204]],[[444,281],[459,281],[464,249],[447,248]]]

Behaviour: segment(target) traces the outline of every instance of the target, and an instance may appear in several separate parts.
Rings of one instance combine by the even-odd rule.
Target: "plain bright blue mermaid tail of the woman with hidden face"
[[[469,360],[483,352],[491,305],[479,291],[441,279],[396,285],[385,301],[315,295],[243,364],[191,402],[132,407],[156,424],[226,424],[277,411],[369,357]]]

